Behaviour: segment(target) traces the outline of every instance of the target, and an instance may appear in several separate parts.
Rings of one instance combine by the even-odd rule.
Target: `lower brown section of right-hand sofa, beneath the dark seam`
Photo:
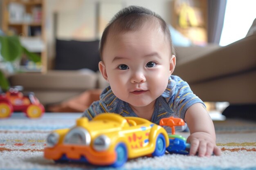
[[[256,104],[256,70],[190,83],[192,91],[205,102]]]

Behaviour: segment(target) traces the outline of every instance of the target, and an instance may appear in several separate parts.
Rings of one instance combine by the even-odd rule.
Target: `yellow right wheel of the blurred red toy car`
[[[27,110],[25,111],[26,116],[29,118],[39,118],[43,116],[43,113],[45,112],[45,109],[43,105],[35,105],[31,104],[27,107]]]

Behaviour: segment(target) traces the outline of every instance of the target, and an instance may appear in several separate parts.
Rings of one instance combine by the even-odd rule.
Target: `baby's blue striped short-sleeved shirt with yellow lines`
[[[151,121],[159,124],[160,119],[164,117],[180,117],[184,119],[186,110],[195,103],[202,103],[202,100],[196,96],[180,77],[171,75],[164,93],[156,99],[154,112]],[[205,105],[204,105],[205,106]],[[110,86],[105,88],[100,95],[100,100],[93,102],[85,110],[83,117],[92,119],[100,113],[117,113],[124,117],[138,117],[127,102],[117,98],[112,92]]]

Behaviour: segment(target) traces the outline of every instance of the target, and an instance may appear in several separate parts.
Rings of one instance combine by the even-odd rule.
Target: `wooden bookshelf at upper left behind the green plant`
[[[20,71],[47,71],[44,0],[3,0],[2,30],[7,35],[19,35],[22,45],[41,57],[40,63],[22,57]]]

